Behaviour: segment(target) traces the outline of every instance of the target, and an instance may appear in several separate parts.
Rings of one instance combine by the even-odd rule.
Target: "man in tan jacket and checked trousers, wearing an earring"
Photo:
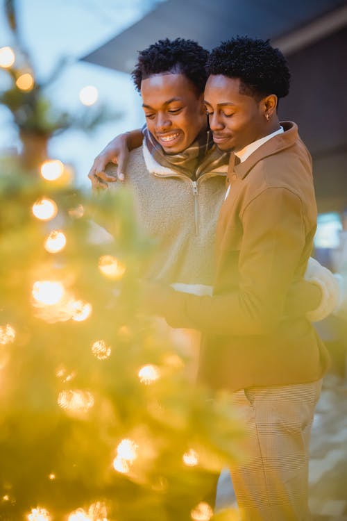
[[[285,58],[236,38],[212,51],[205,105],[214,142],[231,150],[217,226],[212,297],[149,290],[172,326],[204,333],[200,376],[229,390],[246,420],[247,459],[232,469],[245,521],[309,520],[308,446],[328,353],[305,317],[285,317],[289,286],[312,251],[311,158],[296,124],[278,121]]]

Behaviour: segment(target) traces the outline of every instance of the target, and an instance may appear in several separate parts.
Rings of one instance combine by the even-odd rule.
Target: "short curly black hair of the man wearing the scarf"
[[[139,57],[131,76],[136,89],[141,90],[142,80],[153,74],[174,72],[184,74],[201,94],[207,80],[206,60],[208,51],[193,40],[176,38],[176,40],[158,40],[144,51],[139,51]]]

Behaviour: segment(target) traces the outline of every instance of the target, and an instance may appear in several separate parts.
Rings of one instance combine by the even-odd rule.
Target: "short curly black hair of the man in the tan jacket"
[[[289,92],[290,72],[285,57],[269,40],[237,36],[222,42],[210,53],[208,74],[239,78],[240,93],[261,99],[269,94],[278,98]]]

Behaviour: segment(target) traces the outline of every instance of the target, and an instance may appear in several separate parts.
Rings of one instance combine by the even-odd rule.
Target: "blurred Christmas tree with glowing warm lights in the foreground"
[[[48,139],[66,126],[49,111],[19,121],[42,99],[31,77],[34,101],[18,85],[1,101]],[[36,152],[34,175],[9,160],[0,172],[0,519],[208,521],[203,497],[235,461],[239,424],[144,313],[151,246],[128,192],[93,199]],[[91,220],[111,222],[112,240],[95,240]]]

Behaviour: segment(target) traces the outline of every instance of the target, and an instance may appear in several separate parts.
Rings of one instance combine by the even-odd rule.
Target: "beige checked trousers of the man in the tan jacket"
[[[308,521],[308,458],[321,381],[235,392],[245,457],[230,469],[242,521]]]

